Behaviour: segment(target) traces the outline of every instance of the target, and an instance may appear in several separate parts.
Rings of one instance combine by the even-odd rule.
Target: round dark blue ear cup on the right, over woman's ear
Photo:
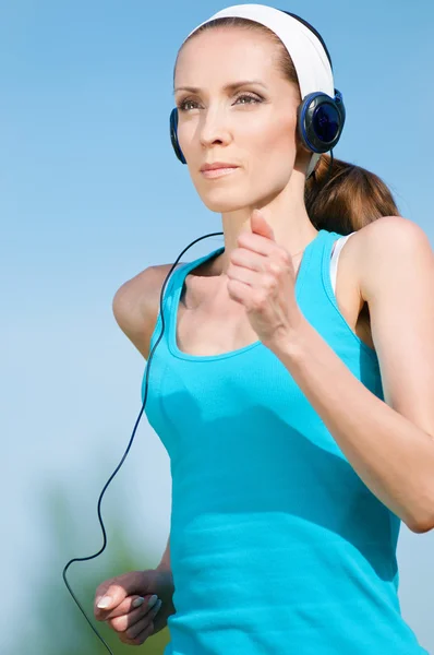
[[[298,109],[298,132],[305,147],[313,153],[327,153],[335,147],[346,119],[342,94],[310,93]]]

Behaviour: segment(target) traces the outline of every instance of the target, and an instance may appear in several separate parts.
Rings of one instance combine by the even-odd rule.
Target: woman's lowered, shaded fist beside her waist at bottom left
[[[173,579],[170,570],[148,569],[130,571],[103,582],[96,590],[94,615],[98,621],[107,623],[119,634],[122,643],[138,646],[148,636],[167,626],[167,619],[174,614],[172,604]],[[157,595],[157,603],[148,608],[148,600]],[[103,597],[111,598],[106,607],[98,607]],[[144,598],[141,605],[134,603]],[[140,600],[138,600],[140,603]]]

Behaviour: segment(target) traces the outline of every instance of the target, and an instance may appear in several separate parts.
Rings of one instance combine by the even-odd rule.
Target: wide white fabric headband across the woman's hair
[[[321,40],[303,23],[273,7],[266,7],[265,4],[234,4],[228,7],[197,25],[186,38],[209,21],[227,16],[250,19],[261,23],[280,38],[296,67],[302,99],[310,93],[317,91],[326,93],[333,98],[335,97],[333,71]],[[316,153],[312,155],[306,177],[312,174],[320,157],[321,155]]]

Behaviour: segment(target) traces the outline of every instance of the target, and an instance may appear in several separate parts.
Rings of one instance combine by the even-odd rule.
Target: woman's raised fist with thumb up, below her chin
[[[276,243],[270,225],[260,210],[251,216],[252,231],[237,239],[230,254],[229,296],[245,307],[260,340],[273,347],[288,340],[303,314],[296,300],[296,273],[288,250]]]

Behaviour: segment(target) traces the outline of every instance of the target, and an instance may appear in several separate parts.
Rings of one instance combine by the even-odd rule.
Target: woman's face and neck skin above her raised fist
[[[261,81],[265,88],[249,84],[238,91],[224,90],[243,80]],[[185,86],[201,91],[179,90]],[[202,33],[179,55],[174,90],[178,136],[191,179],[204,204],[221,213],[220,284],[237,238],[250,230],[254,209],[263,211],[280,246],[291,254],[302,251],[317,234],[304,205],[311,153],[298,144],[300,94],[279,72],[275,45],[261,34],[252,38],[244,29]],[[243,94],[262,102],[243,98]],[[240,168],[224,178],[204,178],[201,166],[216,160]]]

